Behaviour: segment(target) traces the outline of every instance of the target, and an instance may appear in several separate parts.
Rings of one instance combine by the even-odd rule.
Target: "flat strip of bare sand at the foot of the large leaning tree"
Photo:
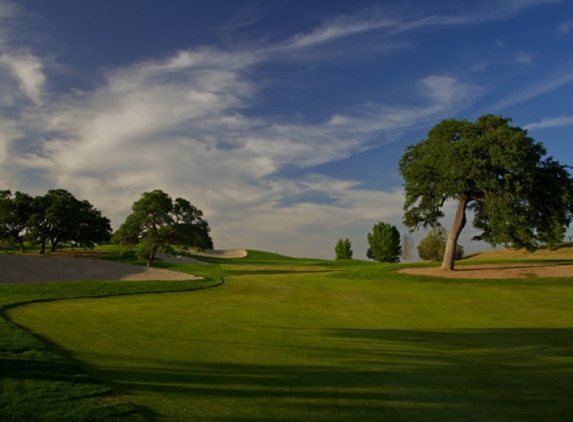
[[[457,265],[454,271],[441,271],[439,267],[404,268],[399,273],[428,275],[440,278],[525,278],[573,277],[573,265],[556,264],[485,264]]]

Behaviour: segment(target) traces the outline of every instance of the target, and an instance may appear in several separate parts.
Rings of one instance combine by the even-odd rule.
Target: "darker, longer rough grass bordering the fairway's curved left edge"
[[[82,368],[5,319],[15,304],[149,292],[190,291],[219,284],[193,281],[78,281],[0,284],[0,421],[145,420],[135,407]]]

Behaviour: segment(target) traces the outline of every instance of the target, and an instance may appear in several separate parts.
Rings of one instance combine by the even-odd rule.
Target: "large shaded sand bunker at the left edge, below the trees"
[[[86,258],[0,254],[0,284],[78,280],[194,280],[200,277]]]

